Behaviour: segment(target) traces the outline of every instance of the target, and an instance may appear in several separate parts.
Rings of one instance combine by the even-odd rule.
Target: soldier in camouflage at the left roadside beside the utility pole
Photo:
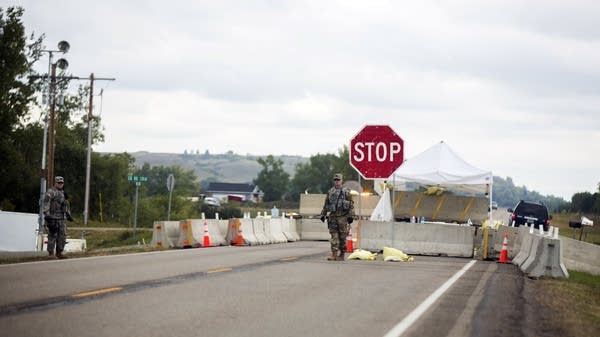
[[[44,219],[48,229],[48,254],[54,256],[56,246],[56,257],[66,258],[62,254],[67,243],[67,227],[65,217],[71,220],[71,214],[63,191],[65,180],[63,177],[54,178],[54,187],[48,189],[44,195]]]

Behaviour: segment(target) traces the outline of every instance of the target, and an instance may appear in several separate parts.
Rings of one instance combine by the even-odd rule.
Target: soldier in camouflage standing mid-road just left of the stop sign
[[[325,204],[321,211],[321,221],[327,218],[327,228],[331,239],[330,261],[344,261],[346,252],[346,236],[350,231],[350,224],[354,220],[354,201],[350,190],[342,188],[343,177],[340,173],[333,176],[335,186],[327,193]]]

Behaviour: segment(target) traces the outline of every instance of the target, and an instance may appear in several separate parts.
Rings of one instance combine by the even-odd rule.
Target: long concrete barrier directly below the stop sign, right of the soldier
[[[474,235],[471,226],[364,221],[359,248],[380,251],[385,246],[406,254],[472,257]]]

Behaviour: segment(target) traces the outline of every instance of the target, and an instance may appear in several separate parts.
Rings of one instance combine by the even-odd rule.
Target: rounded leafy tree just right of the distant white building
[[[283,161],[268,155],[266,159],[258,158],[262,166],[254,184],[265,193],[265,201],[281,200],[288,190],[290,175],[283,170]]]

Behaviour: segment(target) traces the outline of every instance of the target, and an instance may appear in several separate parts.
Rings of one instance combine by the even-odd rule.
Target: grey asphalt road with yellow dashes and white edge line
[[[515,266],[326,261],[327,242],[0,265],[4,336],[528,336]],[[538,334],[539,335],[539,334]]]

